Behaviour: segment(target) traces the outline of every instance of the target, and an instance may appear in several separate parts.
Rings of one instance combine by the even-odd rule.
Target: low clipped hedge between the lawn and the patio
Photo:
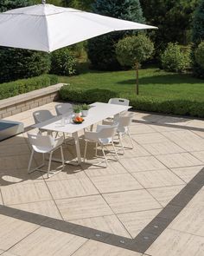
[[[60,90],[61,99],[68,102],[92,103],[108,102],[110,98],[124,97],[111,89],[75,89],[70,85],[64,85]],[[141,95],[132,96],[130,105],[133,109],[149,112],[157,112],[172,115],[191,115],[204,117],[203,102],[194,102],[182,99],[162,99],[145,97]]]

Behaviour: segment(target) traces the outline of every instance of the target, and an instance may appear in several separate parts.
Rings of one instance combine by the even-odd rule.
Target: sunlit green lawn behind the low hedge
[[[112,89],[119,95],[135,98],[135,71],[90,71],[72,77],[60,76],[77,89]],[[139,93],[142,96],[167,100],[188,100],[204,103],[204,80],[190,75],[168,73],[160,69],[139,71]]]

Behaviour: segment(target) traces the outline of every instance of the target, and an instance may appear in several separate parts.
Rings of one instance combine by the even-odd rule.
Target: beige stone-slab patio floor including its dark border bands
[[[36,109],[6,120],[31,131]],[[1,141],[0,255],[203,256],[204,121],[136,113],[131,135],[134,149],[109,167],[67,165],[50,179],[27,174],[26,133]]]

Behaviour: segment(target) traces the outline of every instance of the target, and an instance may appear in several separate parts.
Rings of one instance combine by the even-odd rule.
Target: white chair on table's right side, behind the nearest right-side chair
[[[129,126],[131,125],[131,121],[134,115],[135,115],[134,113],[127,112],[127,114],[125,115],[115,116],[113,121],[107,121],[107,120],[103,121],[103,125],[108,125],[108,126],[112,125],[116,121],[118,122],[117,135],[123,151],[124,151],[124,143],[122,139],[126,135],[130,138],[131,148],[134,148],[134,144],[131,139],[131,134],[129,130]]]

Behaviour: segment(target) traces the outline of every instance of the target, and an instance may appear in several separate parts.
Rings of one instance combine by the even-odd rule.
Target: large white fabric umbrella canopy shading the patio
[[[156,27],[52,4],[37,4],[0,14],[0,45],[46,52],[118,30]]]

